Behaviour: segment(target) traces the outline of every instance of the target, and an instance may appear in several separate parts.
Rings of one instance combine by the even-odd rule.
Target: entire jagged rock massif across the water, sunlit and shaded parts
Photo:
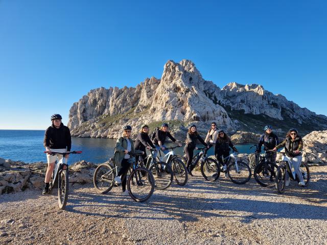
[[[265,124],[280,133],[289,127],[305,133],[327,127],[326,116],[300,108],[261,85],[229,83],[220,89],[204,80],[189,60],[168,61],[161,79],[146,79],[136,88],[91,90],[72,106],[68,127],[76,137],[118,138],[122,125],[131,125],[135,135],[142,124],[153,129],[161,121],[183,134],[194,122],[206,131],[211,121],[227,131],[261,132]]]

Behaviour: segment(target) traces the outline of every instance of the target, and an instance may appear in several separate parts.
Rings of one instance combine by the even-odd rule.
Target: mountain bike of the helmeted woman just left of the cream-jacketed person
[[[219,164],[216,160],[208,158],[206,153],[209,150],[206,147],[198,148],[199,152],[192,158],[190,172],[201,162],[201,174],[205,180],[216,181],[220,176]]]

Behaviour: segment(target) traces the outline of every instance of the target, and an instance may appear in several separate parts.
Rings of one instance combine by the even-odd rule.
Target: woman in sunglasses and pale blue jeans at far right
[[[303,176],[299,170],[299,165],[302,161],[302,151],[303,141],[302,137],[298,135],[297,129],[290,129],[287,134],[285,140],[276,145],[273,151],[277,151],[277,149],[285,147],[285,153],[287,160],[293,164],[294,170],[296,171],[296,175],[299,178],[298,185],[305,186],[305,182],[303,181]],[[289,176],[286,176],[286,186],[290,183]]]

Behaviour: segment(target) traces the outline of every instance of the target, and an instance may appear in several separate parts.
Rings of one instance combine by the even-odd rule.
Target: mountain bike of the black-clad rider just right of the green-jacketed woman
[[[157,161],[154,156],[154,152],[157,150],[150,149],[150,155],[145,159],[138,158],[139,165],[149,169],[155,179],[155,188],[160,190],[167,189],[173,182],[174,173],[170,165],[166,162]],[[146,163],[146,164],[144,164]]]

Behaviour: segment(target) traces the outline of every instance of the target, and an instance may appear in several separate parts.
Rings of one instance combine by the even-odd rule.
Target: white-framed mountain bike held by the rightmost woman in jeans
[[[286,187],[286,176],[288,175],[290,180],[293,181],[299,181],[298,176],[296,175],[293,164],[291,164],[288,159],[285,157],[285,152],[278,152],[280,154],[283,154],[281,164],[278,166],[276,171],[276,180],[275,185],[277,188],[278,193],[283,193],[285,191]],[[307,163],[302,162],[299,164],[299,170],[302,174],[302,178],[305,181],[304,186],[308,186],[310,182],[310,170]]]

